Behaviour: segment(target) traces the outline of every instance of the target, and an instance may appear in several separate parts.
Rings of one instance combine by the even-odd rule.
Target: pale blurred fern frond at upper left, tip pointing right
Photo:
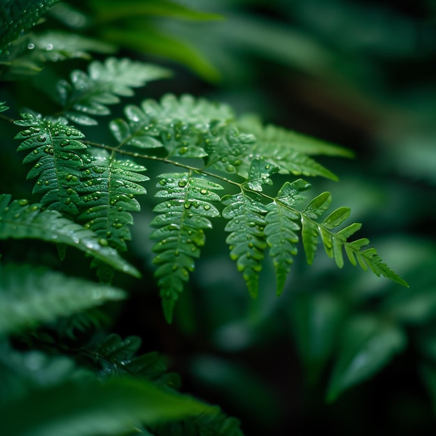
[[[130,97],[132,88],[168,76],[168,70],[155,65],[108,58],[104,63],[91,62],[88,74],[74,70],[70,75],[71,83],[58,82],[57,93],[68,119],[82,125],[95,125],[97,122],[91,116],[110,114],[107,105],[118,103],[118,96]]]

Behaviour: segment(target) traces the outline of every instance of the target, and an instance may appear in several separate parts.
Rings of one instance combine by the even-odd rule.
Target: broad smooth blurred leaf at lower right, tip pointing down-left
[[[327,400],[367,380],[386,366],[407,344],[403,329],[375,316],[360,316],[344,327]]]

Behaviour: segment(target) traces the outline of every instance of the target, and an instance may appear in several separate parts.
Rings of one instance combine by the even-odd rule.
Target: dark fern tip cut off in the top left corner
[[[0,59],[11,42],[29,31],[59,0],[3,0],[0,3]]]

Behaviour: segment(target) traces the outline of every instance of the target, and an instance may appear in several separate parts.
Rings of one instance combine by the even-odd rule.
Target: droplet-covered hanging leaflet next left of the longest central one
[[[141,172],[144,166],[130,160],[118,160],[114,153],[92,150],[86,161],[86,170],[79,187],[81,210],[79,220],[91,228],[109,246],[126,251],[126,240],[131,239],[129,225],[133,224],[130,212],[141,210],[134,196],[146,194],[140,182],[149,180]]]

